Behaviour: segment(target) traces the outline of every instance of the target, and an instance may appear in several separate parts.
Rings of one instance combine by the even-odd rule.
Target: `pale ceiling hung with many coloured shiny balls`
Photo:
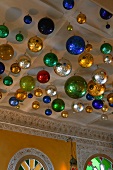
[[[82,76],[87,82],[91,80],[93,71],[97,68],[104,68],[109,75],[106,83],[107,92],[105,93],[105,102],[108,90],[112,90],[113,81],[113,63],[105,64],[103,62],[103,54],[100,52],[100,46],[105,42],[113,44],[113,18],[109,20],[111,25],[110,29],[106,29],[107,22],[103,20],[99,15],[101,6],[90,0],[75,0],[75,6],[71,10],[64,9],[62,1],[58,0],[20,0],[9,1],[2,0],[1,2],[1,24],[9,28],[9,35],[6,38],[0,39],[0,44],[8,43],[14,48],[14,56],[10,60],[1,60],[5,65],[5,72],[1,75],[0,89],[2,92],[2,98],[0,99],[0,107],[9,110],[16,110],[20,113],[29,114],[43,117],[44,119],[53,119],[62,122],[85,125],[91,127],[99,127],[102,129],[113,128],[113,108],[109,107],[107,121],[101,120],[101,110],[93,110],[92,113],[86,113],[82,111],[80,113],[74,113],[71,105],[73,101],[81,101],[85,106],[92,105],[91,101],[86,100],[86,97],[80,99],[72,99],[68,97],[64,90],[64,84],[66,80],[73,76],[75,73]],[[86,15],[87,21],[84,24],[77,23],[76,17],[82,12]],[[25,24],[23,18],[29,14],[32,17],[31,24]],[[38,21],[43,17],[49,17],[54,21],[55,29],[50,35],[43,35],[38,30]],[[73,30],[68,31],[67,26],[73,25]],[[21,31],[24,35],[24,40],[18,42],[15,39],[15,35]],[[43,49],[40,52],[33,53],[28,49],[28,40],[33,36],[38,36],[43,41]],[[85,42],[92,44],[93,50],[91,54],[94,57],[94,64],[90,68],[82,68],[78,64],[78,55],[71,55],[66,50],[66,41],[73,35],[81,36]],[[68,59],[72,64],[72,72],[66,77],[58,76],[52,67],[45,66],[43,57],[45,54],[52,50],[58,57],[58,59]],[[31,58],[31,67],[29,69],[22,69],[19,74],[13,74],[10,72],[11,64],[18,61],[18,58],[23,54],[26,54]],[[36,88],[40,87],[43,90],[43,96],[46,95],[45,88],[53,84],[57,88],[57,96],[51,98],[54,100],[56,97],[61,98],[65,102],[65,110],[68,112],[68,117],[63,118],[61,112],[52,112],[51,116],[45,115],[45,110],[51,108],[51,103],[46,104],[43,102],[42,97],[33,96],[33,98],[26,98],[23,102],[20,102],[20,108],[12,107],[9,105],[10,97],[14,96],[17,89],[20,88],[20,79],[23,76],[30,75],[36,79],[37,73],[40,70],[47,70],[50,73],[50,81],[42,84],[36,80]],[[11,86],[5,86],[3,84],[3,78],[6,75],[10,75],[13,78],[13,84]],[[33,91],[31,91],[33,93]],[[40,108],[34,110],[32,108],[33,101],[38,100],[40,102]]]

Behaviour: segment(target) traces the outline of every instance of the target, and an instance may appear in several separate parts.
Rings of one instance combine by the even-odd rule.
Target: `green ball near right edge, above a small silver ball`
[[[112,51],[112,46],[109,43],[104,43],[104,44],[101,45],[100,51],[103,54],[110,54],[111,51]]]

